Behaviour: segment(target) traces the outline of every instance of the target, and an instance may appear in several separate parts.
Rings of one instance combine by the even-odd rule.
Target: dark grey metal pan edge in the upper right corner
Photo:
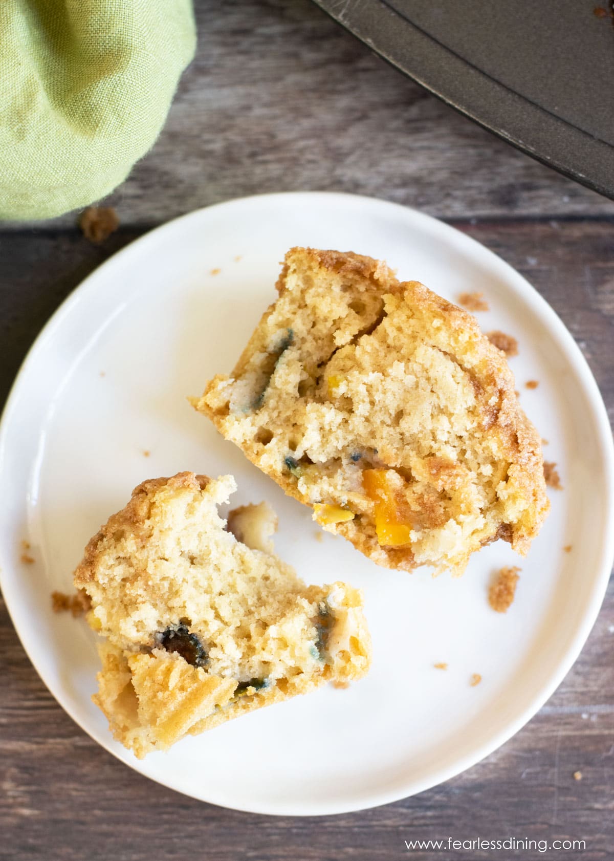
[[[614,198],[611,0],[315,2],[444,102]]]

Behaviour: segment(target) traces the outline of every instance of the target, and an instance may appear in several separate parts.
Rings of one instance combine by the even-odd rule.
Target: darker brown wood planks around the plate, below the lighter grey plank
[[[288,13],[288,4],[283,4]],[[300,6],[297,7],[301,9]],[[614,408],[614,222],[458,221],[524,272],[555,307]],[[78,231],[0,232],[0,402],[40,325],[111,251]],[[214,808],[152,784],[90,740],[29,664],[0,603],[0,858],[26,861],[398,861],[512,858],[407,852],[411,839],[586,839],[614,858],[614,582],[573,670],[499,751],[436,789],[384,808],[270,818]],[[70,623],[67,623],[70,624]],[[317,753],[317,739],[308,743]],[[255,754],[246,767],[263,767]],[[582,780],[574,780],[574,771]],[[542,852],[520,852],[532,861]]]

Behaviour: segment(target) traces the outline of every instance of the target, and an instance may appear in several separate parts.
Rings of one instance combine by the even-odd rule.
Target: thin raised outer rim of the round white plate
[[[603,463],[604,472],[605,472],[605,492],[606,492],[606,503],[607,503],[607,511],[605,520],[607,521],[608,516],[611,519],[614,517],[614,441],[611,437],[610,430],[610,422],[607,415],[607,411],[605,408],[604,400],[601,396],[601,393],[598,389],[597,381],[592,375],[592,370],[590,369],[588,362],[586,362],[586,358],[583,355],[582,351],[578,344],[576,344],[572,334],[568,331],[567,326],[564,325],[562,320],[559,318],[558,314],[555,312],[554,308],[549,305],[549,303],[543,298],[543,296],[538,293],[536,288],[533,287],[530,282],[524,278],[516,269],[512,267],[510,263],[506,263],[502,257],[499,257],[494,251],[487,248],[486,245],[482,245],[478,240],[473,237],[468,236],[468,234],[463,233],[458,230],[455,226],[452,226],[446,223],[443,220],[439,220],[434,216],[429,214],[425,214],[420,212],[419,209],[406,207],[403,204],[396,203],[394,201],[386,201],[377,197],[370,197],[368,195],[353,195],[346,192],[334,192],[334,191],[288,191],[288,192],[272,192],[266,193],[262,195],[248,195],[244,197],[236,197],[227,201],[221,201],[220,203],[212,204],[208,207],[202,207],[199,209],[195,209],[192,212],[183,214],[176,219],[172,219],[170,221],[165,222],[163,225],[160,225],[153,230],[150,230],[143,234],[141,237],[134,239],[133,242],[121,248],[120,251],[116,251],[115,254],[111,255],[107,260],[101,263],[99,266],[94,269],[90,275],[86,276],[82,282],[80,282],[76,288],[74,288],[71,293],[61,302],[59,307],[55,310],[52,316],[47,320],[47,323],[42,327],[36,338],[34,338],[33,344],[31,344],[30,348],[26,356],[24,357],[22,364],[16,374],[15,380],[9,391],[9,396],[6,400],[5,406],[3,408],[2,416],[0,417],[0,482],[3,480],[3,461],[4,461],[4,453],[6,447],[6,436],[8,433],[10,418],[12,412],[14,410],[14,403],[16,403],[19,390],[22,385],[22,380],[28,373],[28,369],[30,364],[32,364],[37,354],[40,350],[44,350],[45,343],[48,338],[53,335],[53,331],[62,324],[65,316],[72,312],[73,307],[76,307],[78,303],[83,302],[87,299],[87,295],[90,293],[92,289],[96,289],[96,279],[100,276],[102,270],[112,269],[113,266],[117,265],[118,260],[120,264],[130,257],[131,254],[135,252],[135,248],[137,246],[144,245],[147,241],[151,241],[151,238],[158,235],[159,232],[168,231],[169,229],[175,229],[178,225],[180,225],[183,220],[189,220],[193,218],[197,218],[199,215],[203,213],[209,213],[211,211],[218,210],[220,208],[228,208],[233,207],[237,204],[254,204],[256,205],[260,201],[288,201],[288,199],[296,198],[296,197],[308,197],[309,199],[317,199],[320,198],[322,201],[331,201],[332,199],[337,199],[340,202],[349,202],[354,204],[361,204],[364,207],[374,207],[375,208],[387,208],[388,210],[396,210],[397,213],[401,214],[401,217],[405,216],[405,218],[409,218],[410,220],[419,220],[421,222],[425,222],[427,226],[430,226],[432,230],[437,230],[438,232],[443,232],[444,238],[448,241],[449,245],[454,245],[456,248],[462,245],[468,247],[469,251],[477,251],[477,255],[486,256],[488,258],[488,263],[491,265],[491,270],[499,270],[501,276],[505,278],[505,281],[510,284],[510,286],[515,289],[518,286],[518,292],[521,294],[522,298],[528,302],[531,306],[531,310],[537,312],[537,316],[542,319],[549,327],[549,330],[553,332],[559,339],[562,346],[564,346],[565,354],[570,361],[572,367],[578,374],[579,382],[581,383],[582,390],[586,395],[586,400],[588,406],[591,409],[591,418],[594,430],[596,431],[596,435],[598,437],[599,444],[605,455],[605,460]],[[473,259],[475,259],[473,257]],[[106,268],[106,269],[105,269]],[[514,284],[514,282],[516,282]],[[92,286],[93,285],[93,286]],[[544,320],[545,317],[545,320]],[[462,771],[466,771],[468,768],[473,765],[477,765],[481,760],[485,759],[495,750],[497,750],[500,746],[505,744],[505,741],[510,740],[513,735],[517,734],[518,731],[524,727],[526,723],[530,721],[530,719],[536,715],[539,709],[542,708],[543,704],[547,702],[549,697],[555,692],[556,688],[561,684],[561,681],[567,675],[567,672],[574,665],[575,660],[577,660],[582,647],[584,647],[588,635],[590,635],[592,627],[596,621],[598,616],[598,611],[600,610],[601,604],[603,603],[603,599],[605,597],[605,590],[607,588],[610,574],[612,562],[614,561],[614,530],[611,533],[605,531],[603,536],[603,543],[601,553],[598,557],[598,574],[594,578],[594,583],[592,586],[592,590],[590,592],[590,600],[587,603],[587,609],[584,615],[582,616],[580,622],[576,626],[576,630],[574,632],[574,636],[568,641],[567,648],[561,653],[561,657],[557,661],[556,672],[552,672],[549,681],[547,684],[543,684],[543,687],[540,689],[539,693],[536,694],[535,697],[532,698],[530,704],[520,712],[515,719],[507,722],[504,728],[499,729],[498,732],[494,733],[489,737],[486,743],[482,744],[479,749],[474,750],[474,753],[466,754],[461,759],[457,760],[454,765],[447,765],[440,767],[437,771],[432,771],[430,777],[427,779],[416,780],[407,778],[406,782],[404,782],[404,790],[401,792],[399,790],[388,790],[388,791],[379,791],[376,792],[373,796],[369,798],[369,800],[362,800],[359,803],[353,802],[349,804],[331,804],[325,803],[324,805],[319,804],[319,802],[301,802],[301,809],[297,809],[295,807],[284,807],[283,804],[274,805],[276,808],[271,809],[271,805],[259,806],[258,804],[251,804],[249,806],[245,804],[241,804],[240,806],[234,806],[232,803],[224,801],[211,801],[208,798],[203,796],[195,795],[190,791],[184,790],[180,785],[178,785],[179,781],[174,780],[172,778],[159,777],[158,775],[151,775],[147,771],[145,771],[142,767],[139,767],[140,764],[144,761],[129,759],[127,752],[123,751],[123,749],[116,750],[113,746],[111,746],[112,736],[109,734],[109,743],[105,744],[104,741],[96,738],[94,734],[90,731],[90,728],[84,726],[84,723],[81,722],[78,717],[73,713],[73,709],[71,708],[70,703],[65,702],[65,697],[62,691],[53,691],[52,688],[47,684],[45,676],[40,669],[40,666],[35,659],[31,650],[28,649],[24,638],[22,637],[22,633],[16,626],[15,617],[12,611],[12,602],[17,601],[16,592],[13,592],[12,587],[9,583],[9,576],[6,573],[6,570],[3,567],[0,567],[0,588],[3,591],[4,602],[6,604],[7,611],[9,613],[9,618],[13,623],[13,626],[16,630],[16,634],[19,640],[22,643],[22,647],[25,653],[28,655],[28,659],[32,666],[34,666],[34,670],[38,673],[39,678],[42,683],[45,684],[47,690],[52,694],[56,702],[59,703],[62,709],[65,710],[66,714],[71,717],[71,719],[77,723],[77,725],[84,730],[86,734],[90,736],[90,738],[96,741],[96,744],[102,746],[103,749],[111,753],[115,756],[116,759],[119,759],[122,763],[128,765],[133,771],[137,771],[140,775],[144,777],[148,777],[151,780],[154,780],[156,783],[164,785],[165,787],[180,792],[181,794],[189,797],[193,797],[198,801],[207,802],[210,804],[214,804],[219,807],[239,810],[247,813],[255,813],[260,815],[342,815],[344,813],[351,813],[358,810],[369,809],[373,807],[379,807],[383,804],[388,804],[391,802],[400,801],[403,798],[410,797],[418,794],[419,792],[423,792],[425,790],[431,789],[439,784],[444,783],[447,780],[450,780],[452,777],[456,777],[458,774],[461,774]],[[15,579],[15,578],[14,578]],[[292,802],[294,803],[294,802]]]

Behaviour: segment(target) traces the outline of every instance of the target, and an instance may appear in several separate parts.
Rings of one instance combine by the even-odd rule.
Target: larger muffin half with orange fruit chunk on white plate
[[[196,408],[375,562],[462,573],[548,510],[541,443],[474,318],[381,262],[293,249],[279,298]]]

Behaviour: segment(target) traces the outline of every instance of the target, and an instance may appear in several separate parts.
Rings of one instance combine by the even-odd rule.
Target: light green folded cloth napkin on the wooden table
[[[191,0],[0,0],[0,219],[115,189],[194,51]]]

